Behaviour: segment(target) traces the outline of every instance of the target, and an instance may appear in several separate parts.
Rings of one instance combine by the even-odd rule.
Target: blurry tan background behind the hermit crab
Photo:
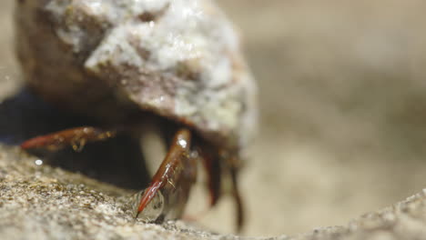
[[[260,131],[241,175],[244,235],[294,235],[425,187],[426,2],[218,0],[259,83]],[[0,95],[20,81],[0,4]],[[230,201],[203,225],[231,232]],[[233,212],[231,212],[233,213]]]

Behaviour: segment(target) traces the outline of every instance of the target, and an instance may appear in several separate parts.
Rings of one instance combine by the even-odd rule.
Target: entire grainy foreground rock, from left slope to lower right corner
[[[295,236],[219,235],[183,221],[137,221],[129,204],[133,192],[40,161],[0,145],[2,239],[426,239],[426,191],[348,225]]]

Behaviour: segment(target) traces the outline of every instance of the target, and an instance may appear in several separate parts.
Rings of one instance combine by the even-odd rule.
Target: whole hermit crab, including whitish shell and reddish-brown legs
[[[237,175],[255,132],[256,86],[238,35],[212,1],[19,0],[15,25],[29,88],[102,123],[37,136],[24,149],[79,150],[123,132],[140,137],[149,121],[167,128],[168,152],[136,215],[151,215],[147,205],[157,199],[151,220],[181,216],[199,162],[208,170],[210,205],[230,183],[242,225]]]

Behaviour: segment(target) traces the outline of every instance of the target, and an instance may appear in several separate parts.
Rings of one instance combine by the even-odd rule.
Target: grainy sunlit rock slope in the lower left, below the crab
[[[213,236],[180,222],[144,224],[132,216],[131,191],[41,164],[0,147],[2,239],[199,239]],[[209,237],[208,237],[209,239]]]

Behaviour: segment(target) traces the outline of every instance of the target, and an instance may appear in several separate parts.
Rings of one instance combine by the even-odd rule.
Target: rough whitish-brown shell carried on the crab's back
[[[221,145],[250,140],[256,85],[238,35],[213,2],[21,2],[18,56],[28,84],[48,101],[111,114],[130,103]]]

